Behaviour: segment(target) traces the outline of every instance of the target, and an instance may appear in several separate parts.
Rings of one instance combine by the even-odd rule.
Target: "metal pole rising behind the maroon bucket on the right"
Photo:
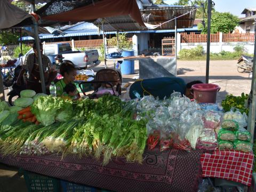
[[[208,0],[208,8],[207,8],[206,78],[205,78],[205,83],[209,83],[211,17],[212,17],[212,0]]]

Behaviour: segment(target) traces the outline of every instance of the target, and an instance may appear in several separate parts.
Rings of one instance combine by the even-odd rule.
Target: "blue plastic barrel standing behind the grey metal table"
[[[122,57],[134,56],[134,51],[123,51]],[[124,75],[134,74],[134,61],[123,61],[120,65],[121,73]]]

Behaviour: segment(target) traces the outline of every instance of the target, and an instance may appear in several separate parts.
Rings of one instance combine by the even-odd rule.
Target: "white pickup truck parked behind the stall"
[[[87,66],[95,66],[100,63],[98,50],[72,51],[69,43],[46,44],[43,47],[43,54],[45,54],[51,62],[55,63],[55,56],[62,54],[63,61],[69,61],[75,65],[77,69],[85,69]],[[22,57],[24,63],[28,54],[33,53],[33,49],[29,50]]]

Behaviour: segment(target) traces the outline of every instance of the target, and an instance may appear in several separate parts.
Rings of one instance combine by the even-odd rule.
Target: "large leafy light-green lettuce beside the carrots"
[[[72,113],[72,101],[49,95],[47,97],[39,97],[31,106],[31,112],[36,115],[37,121],[44,126],[53,124],[57,115],[62,111],[70,111]],[[59,118],[61,120],[67,119],[66,115],[65,117],[61,115],[61,117]]]

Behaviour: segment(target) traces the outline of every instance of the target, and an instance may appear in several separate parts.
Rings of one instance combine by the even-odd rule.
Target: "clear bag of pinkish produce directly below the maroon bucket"
[[[219,126],[221,119],[221,114],[213,111],[205,111],[203,121],[205,128],[215,129]]]

